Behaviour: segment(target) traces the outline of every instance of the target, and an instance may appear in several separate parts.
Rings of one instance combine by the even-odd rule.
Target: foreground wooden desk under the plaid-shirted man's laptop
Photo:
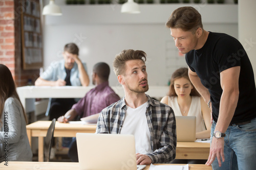
[[[8,162],[8,166],[4,165],[5,162],[0,163],[0,169],[8,170],[35,170],[35,169],[47,169],[47,170],[80,170],[79,163],[74,162]],[[168,165],[168,164],[155,164],[155,165]],[[184,165],[184,164],[173,164]],[[211,170],[211,166],[204,164],[189,164],[189,170]],[[143,170],[150,169],[150,165],[146,165]]]

